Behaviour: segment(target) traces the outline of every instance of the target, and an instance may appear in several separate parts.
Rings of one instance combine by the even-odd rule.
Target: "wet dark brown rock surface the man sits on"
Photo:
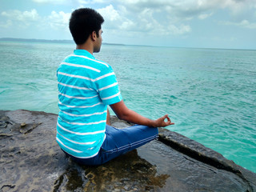
[[[0,111],[0,191],[256,191],[256,174],[170,130],[102,166],[78,166],[55,142],[58,115]],[[113,126],[129,126],[111,117]]]

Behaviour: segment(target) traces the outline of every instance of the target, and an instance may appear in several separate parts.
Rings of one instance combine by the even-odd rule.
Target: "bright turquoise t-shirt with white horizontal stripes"
[[[86,50],[74,50],[58,66],[56,140],[77,158],[98,154],[105,139],[107,105],[122,96],[112,67]]]

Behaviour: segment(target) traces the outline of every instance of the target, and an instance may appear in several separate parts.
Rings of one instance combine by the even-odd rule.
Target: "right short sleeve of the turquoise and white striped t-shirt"
[[[95,84],[98,89],[98,94],[104,104],[112,105],[122,101],[118,81],[111,66],[101,71]]]

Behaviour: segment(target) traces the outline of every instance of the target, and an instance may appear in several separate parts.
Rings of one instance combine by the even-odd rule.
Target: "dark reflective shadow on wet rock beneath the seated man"
[[[133,150],[102,166],[78,166],[70,160],[54,191],[158,191],[169,177],[158,175],[156,166]]]

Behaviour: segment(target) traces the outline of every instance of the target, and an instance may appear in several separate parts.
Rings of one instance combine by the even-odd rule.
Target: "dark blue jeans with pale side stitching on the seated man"
[[[113,158],[143,146],[158,137],[158,128],[149,126],[130,126],[117,129],[106,125],[106,138],[98,154],[93,158],[75,158],[68,154],[74,162],[87,166],[98,166]],[[65,151],[64,151],[65,152]]]

